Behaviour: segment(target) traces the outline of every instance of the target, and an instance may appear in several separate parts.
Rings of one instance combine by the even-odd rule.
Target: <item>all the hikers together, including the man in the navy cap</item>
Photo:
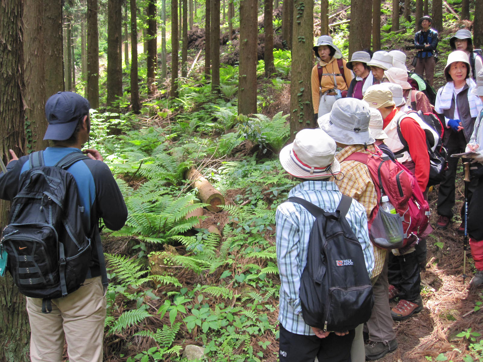
[[[398,348],[393,320],[423,309],[430,187],[439,185],[434,226],[453,218],[453,154],[470,173],[458,229],[476,268],[469,285],[483,285],[482,56],[470,31],[458,30],[446,84],[434,92],[431,22],[419,21],[414,71],[399,50],[360,50],[346,61],[329,35],[313,47],[318,128],[299,131],[279,155],[301,181],[275,215],[280,361],[362,362]],[[12,201],[0,275],[9,270],[27,296],[32,361],[62,361],[64,338],[71,362],[103,358],[108,279],[98,225],[119,230],[128,212],[99,152],[81,151],[89,108],[76,93],[50,97],[44,139],[53,147],[20,158],[10,150],[0,173],[0,198]]]

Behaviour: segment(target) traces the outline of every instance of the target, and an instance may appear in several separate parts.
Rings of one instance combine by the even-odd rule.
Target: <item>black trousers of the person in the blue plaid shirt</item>
[[[351,362],[351,346],[354,329],[339,336],[330,333],[326,338],[316,335],[295,334],[280,324],[280,362]]]

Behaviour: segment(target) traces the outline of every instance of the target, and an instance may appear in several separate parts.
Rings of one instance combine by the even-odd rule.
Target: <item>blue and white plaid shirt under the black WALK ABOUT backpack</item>
[[[337,209],[341,195],[332,181],[304,181],[289,193],[289,197],[303,198],[330,212]],[[361,243],[370,277],[374,266],[374,252],[369,241],[366,210],[353,200],[346,219]],[[293,202],[281,204],[275,215],[277,264],[282,281],[278,320],[287,331],[295,334],[314,334],[302,318],[298,293],[302,271],[307,263],[309,236],[314,221],[315,218],[309,211]]]

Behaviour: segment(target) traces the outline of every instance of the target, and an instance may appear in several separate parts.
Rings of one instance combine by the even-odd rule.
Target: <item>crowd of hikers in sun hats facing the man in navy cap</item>
[[[393,320],[423,309],[420,273],[433,231],[428,191],[439,185],[434,226],[445,229],[453,217],[458,158],[467,172],[458,233],[469,237],[476,268],[469,286],[483,285],[482,56],[471,32],[458,30],[446,84],[435,92],[438,33],[431,23],[427,15],[419,20],[414,71],[400,50],[364,49],[346,62],[328,35],[313,47],[319,128],[299,131],[279,156],[301,181],[276,212],[280,361],[372,361],[398,348]],[[342,250],[355,242],[360,247],[347,256]],[[334,250],[335,243],[344,247]],[[370,278],[369,296],[365,280],[355,278],[360,273]]]

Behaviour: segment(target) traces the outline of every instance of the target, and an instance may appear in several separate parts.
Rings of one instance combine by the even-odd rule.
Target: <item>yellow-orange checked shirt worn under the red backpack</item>
[[[362,204],[369,219],[372,210],[377,206],[377,191],[366,165],[358,161],[344,161],[344,159],[355,152],[370,154],[376,153],[377,150],[372,144],[367,146],[367,151],[363,145],[350,145],[343,148],[336,155],[336,159],[341,163],[341,172],[344,174],[344,177],[341,180],[335,181],[335,183],[342,194],[350,196]],[[337,178],[339,179],[339,176]],[[372,278],[381,274],[386,254],[387,250],[377,246],[374,247],[374,269],[372,270]]]

